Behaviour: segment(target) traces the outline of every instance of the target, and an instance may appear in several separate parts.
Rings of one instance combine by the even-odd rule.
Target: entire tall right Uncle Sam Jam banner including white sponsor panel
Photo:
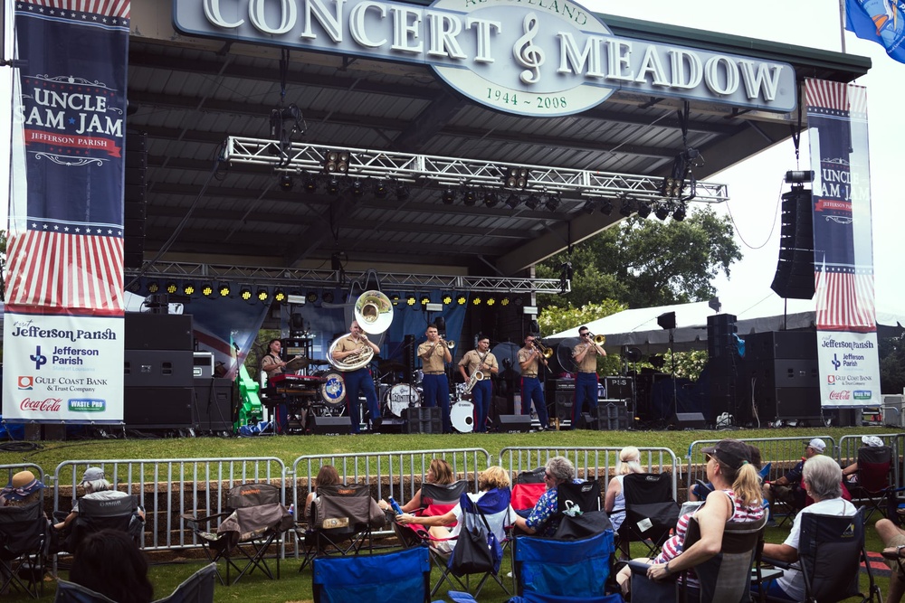
[[[814,301],[825,406],[880,403],[867,90],[805,80],[814,170]]]

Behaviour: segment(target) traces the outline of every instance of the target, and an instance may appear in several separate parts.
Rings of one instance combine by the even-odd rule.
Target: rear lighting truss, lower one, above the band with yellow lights
[[[218,282],[242,281],[254,287],[336,287],[334,270],[285,269],[225,264],[195,264],[192,262],[146,262],[141,270],[127,270],[129,278],[140,276],[157,280],[211,279]],[[346,270],[346,278],[354,280],[367,276],[365,271]],[[380,287],[393,291],[424,291],[426,288],[444,291],[491,291],[504,293],[556,293],[561,291],[559,278],[463,277],[453,275],[412,274],[409,272],[379,273]],[[127,279],[128,280],[128,279]]]

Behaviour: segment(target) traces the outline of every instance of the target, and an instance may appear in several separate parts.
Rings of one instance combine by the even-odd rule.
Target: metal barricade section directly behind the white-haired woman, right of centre
[[[605,490],[610,476],[614,475],[616,461],[619,460],[620,448],[503,448],[500,450],[500,466],[510,471],[514,478],[522,471],[530,471],[544,466],[552,457],[566,457],[576,468],[576,476],[586,480],[604,483]],[[681,465],[675,453],[669,448],[641,448],[641,466],[648,473],[672,473],[672,496],[678,492],[678,479]]]

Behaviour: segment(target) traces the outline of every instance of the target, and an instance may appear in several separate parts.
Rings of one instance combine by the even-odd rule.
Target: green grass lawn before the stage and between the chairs
[[[669,448],[680,460],[691,442],[699,439],[734,438],[809,438],[812,435],[829,435],[837,439],[853,433],[889,433],[890,429],[741,429],[732,431],[574,431],[528,434],[457,434],[431,435],[361,435],[361,436],[285,436],[262,438],[110,438],[86,439],[62,442],[37,442],[34,447],[16,443],[14,447],[0,449],[0,465],[35,463],[48,474],[62,461],[86,459],[166,459],[195,457],[279,457],[287,466],[293,459],[306,455],[342,454],[393,450],[449,450],[454,448],[484,448],[496,457],[505,447],[582,448],[622,447],[634,445],[644,448]],[[13,448],[13,449],[11,449]],[[765,459],[768,460],[768,459]],[[680,483],[683,483],[681,481]],[[874,517],[875,521],[876,517]],[[768,528],[768,542],[782,542],[788,528]],[[872,526],[866,532],[868,551],[880,551],[881,542]],[[640,545],[633,554],[642,554]],[[272,563],[272,561],[271,561]],[[169,561],[155,563],[151,577],[157,598],[166,596],[195,570],[201,561]],[[281,564],[281,579],[268,580],[258,573],[246,576],[236,586],[217,586],[215,600],[218,603],[238,601],[253,603],[262,601],[311,600],[311,573],[306,568],[298,572],[299,561],[286,559]],[[510,571],[509,558],[503,561],[500,575]],[[62,572],[65,578],[65,572]],[[439,574],[434,570],[434,579]],[[505,581],[505,579],[504,579]],[[885,592],[887,578],[877,582]],[[54,594],[54,582],[45,583],[41,600],[50,601]],[[866,589],[866,577],[862,574],[862,588]],[[443,598],[444,591],[434,599]],[[3,596],[8,601],[33,600],[22,595]],[[500,603],[508,596],[493,582],[481,591],[481,603]]]

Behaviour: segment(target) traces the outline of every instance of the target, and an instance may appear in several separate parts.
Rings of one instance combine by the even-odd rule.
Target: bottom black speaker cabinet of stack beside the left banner
[[[123,391],[126,429],[190,429],[194,427],[191,387],[127,387]]]

